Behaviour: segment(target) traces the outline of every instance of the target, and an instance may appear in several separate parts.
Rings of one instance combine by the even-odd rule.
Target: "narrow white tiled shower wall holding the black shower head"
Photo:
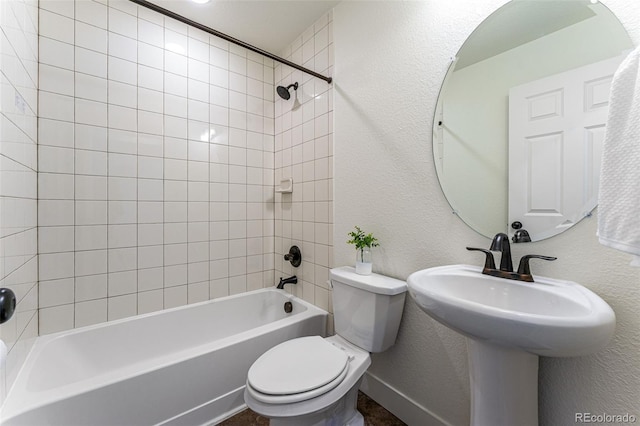
[[[332,28],[330,12],[282,56],[333,75]],[[298,284],[287,288],[331,312],[327,280],[333,259],[333,86],[280,64],[275,67],[275,81],[285,87],[294,82],[300,85],[297,93],[290,89],[290,100],[276,96],[275,103],[275,185],[281,179],[293,179],[293,192],[277,193],[275,198],[276,279],[297,275]],[[283,259],[291,245],[302,251],[298,268]]]

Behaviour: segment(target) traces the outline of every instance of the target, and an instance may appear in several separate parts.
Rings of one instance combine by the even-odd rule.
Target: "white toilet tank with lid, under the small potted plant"
[[[382,352],[396,341],[407,283],[384,275],[356,274],[343,266],[330,273],[335,332],[369,352]]]

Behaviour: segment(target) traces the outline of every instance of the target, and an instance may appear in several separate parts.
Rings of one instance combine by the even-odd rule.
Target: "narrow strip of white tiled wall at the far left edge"
[[[0,287],[16,313],[0,326],[0,404],[38,335],[38,2],[0,1]],[[3,348],[0,348],[2,351]],[[2,358],[2,356],[0,356]]]

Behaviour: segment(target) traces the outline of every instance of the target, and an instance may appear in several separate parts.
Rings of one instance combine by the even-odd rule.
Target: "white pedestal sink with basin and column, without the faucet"
[[[611,307],[587,288],[536,276],[527,283],[449,265],[409,276],[429,316],[468,338],[471,425],[538,424],[538,356],[587,355],[615,328]]]

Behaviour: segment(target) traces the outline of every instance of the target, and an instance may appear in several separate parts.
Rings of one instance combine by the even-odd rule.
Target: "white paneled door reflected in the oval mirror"
[[[509,222],[536,239],[573,226],[596,206],[609,88],[621,61],[509,91]]]

